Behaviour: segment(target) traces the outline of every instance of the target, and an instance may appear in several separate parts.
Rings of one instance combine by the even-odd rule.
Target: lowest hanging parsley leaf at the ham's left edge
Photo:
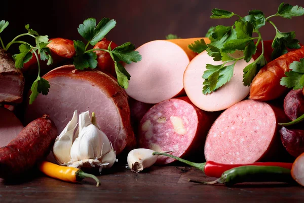
[[[38,76],[30,88],[31,94],[29,96],[29,104],[31,105],[33,103],[33,101],[37,98],[39,93],[42,93],[43,95],[47,95],[49,93],[49,88],[50,88],[49,81]]]

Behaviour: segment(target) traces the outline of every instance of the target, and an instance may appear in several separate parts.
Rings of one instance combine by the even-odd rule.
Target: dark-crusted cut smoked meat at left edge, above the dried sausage
[[[0,103],[20,104],[23,89],[23,74],[16,69],[13,58],[0,48]]]

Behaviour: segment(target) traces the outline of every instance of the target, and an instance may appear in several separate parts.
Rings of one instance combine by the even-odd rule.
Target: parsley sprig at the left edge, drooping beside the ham
[[[0,33],[9,25],[8,21],[1,20],[0,21]],[[34,31],[33,29],[29,28],[29,24],[25,25],[25,29],[27,30],[26,33],[23,33],[21,35],[18,35],[15,37],[10,43],[7,44],[7,46],[4,45],[1,37],[0,42],[4,50],[8,50],[11,45],[13,44],[21,44],[19,46],[20,53],[15,54],[13,57],[15,59],[15,66],[17,69],[21,69],[24,65],[24,63],[28,62],[32,58],[32,53],[37,58],[37,64],[38,64],[38,76],[37,79],[33,82],[30,90],[31,94],[29,96],[29,104],[32,104],[33,101],[36,99],[36,97],[39,95],[39,93],[42,93],[43,95],[47,95],[49,92],[50,84],[47,80],[40,77],[40,62],[39,62],[39,56],[41,60],[48,60],[47,65],[50,65],[53,63],[53,59],[51,56],[51,51],[47,47],[47,45],[50,43],[48,36],[40,36],[38,32]],[[27,42],[19,41],[20,37],[24,36],[30,36],[35,39],[35,46],[30,45]]]

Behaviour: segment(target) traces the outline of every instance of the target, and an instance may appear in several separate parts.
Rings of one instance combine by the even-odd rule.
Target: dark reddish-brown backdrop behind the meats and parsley
[[[245,16],[249,10],[258,9],[266,16],[275,14],[282,0],[53,0],[14,1],[1,0],[0,20],[10,25],[1,33],[5,44],[25,32],[24,25],[49,38],[62,37],[71,40],[82,39],[77,27],[86,18],[94,17],[97,22],[103,17],[115,19],[117,25],[107,38],[122,44],[131,41],[136,46],[164,39],[169,33],[181,38],[204,37],[213,25],[231,25],[233,19],[209,19],[211,9],[220,8]],[[291,5],[304,6],[302,0],[290,0]],[[296,31],[296,37],[304,42],[304,16],[291,20],[272,19],[280,31]],[[264,40],[274,38],[275,29],[269,24],[261,29]],[[14,49],[14,48],[13,48]],[[16,47],[15,47],[16,49]]]

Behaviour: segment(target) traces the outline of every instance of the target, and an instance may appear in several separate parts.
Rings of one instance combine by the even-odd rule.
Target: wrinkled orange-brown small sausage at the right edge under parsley
[[[286,87],[280,85],[280,80],[289,71],[289,65],[293,61],[299,61],[304,57],[304,46],[290,51],[265,65],[255,76],[250,86],[249,98],[267,101],[281,96]]]

